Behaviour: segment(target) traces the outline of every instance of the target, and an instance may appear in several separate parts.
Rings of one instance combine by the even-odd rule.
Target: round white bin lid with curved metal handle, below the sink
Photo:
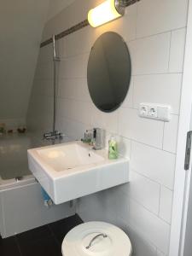
[[[113,224],[88,222],[67,233],[62,242],[63,256],[129,256],[131,241]]]

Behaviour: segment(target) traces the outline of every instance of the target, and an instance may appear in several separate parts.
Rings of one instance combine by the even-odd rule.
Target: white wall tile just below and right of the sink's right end
[[[158,214],[160,184],[154,183],[137,172],[130,173],[130,196],[149,211]]]

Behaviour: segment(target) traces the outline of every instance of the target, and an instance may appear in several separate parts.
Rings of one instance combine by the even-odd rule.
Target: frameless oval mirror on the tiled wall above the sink
[[[123,38],[106,32],[90,51],[87,68],[90,97],[97,108],[112,112],[125,100],[131,80],[131,57]]]

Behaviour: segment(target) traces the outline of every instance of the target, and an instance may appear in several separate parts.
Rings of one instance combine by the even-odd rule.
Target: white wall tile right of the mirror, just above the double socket
[[[136,76],[134,78],[134,108],[139,108],[142,102],[151,102],[170,105],[172,113],[178,113],[181,86],[182,74]]]

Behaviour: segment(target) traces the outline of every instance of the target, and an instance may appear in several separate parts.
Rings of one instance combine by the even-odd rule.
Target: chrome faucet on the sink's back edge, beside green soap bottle
[[[101,128],[93,129],[93,149],[105,148],[105,130]]]

